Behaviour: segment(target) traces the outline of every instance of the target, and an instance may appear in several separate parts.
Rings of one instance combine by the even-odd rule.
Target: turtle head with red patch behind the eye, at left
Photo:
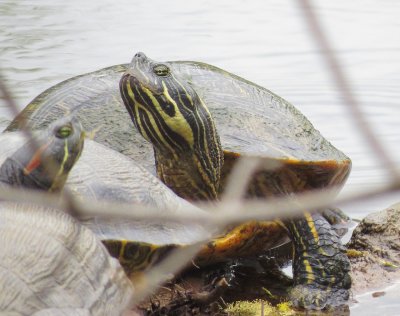
[[[78,119],[64,117],[33,134],[0,167],[0,181],[46,191],[59,191],[83,150],[84,133]],[[36,147],[36,148],[35,148]]]

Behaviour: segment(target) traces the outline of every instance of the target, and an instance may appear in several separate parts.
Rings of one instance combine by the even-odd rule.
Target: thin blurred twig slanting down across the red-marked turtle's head
[[[0,94],[3,95],[4,100],[6,101],[7,107],[10,110],[11,114],[16,117],[19,114],[19,109],[17,104],[14,101],[14,98],[11,96],[11,93],[7,89],[4,80],[0,74]],[[42,144],[39,144],[38,141],[35,139],[31,129],[29,128],[27,119],[22,115],[20,116],[20,126],[21,126],[21,131],[22,133],[26,136],[26,138],[29,140],[29,145],[31,146],[32,152],[36,152]],[[47,170],[51,171],[52,173],[56,173],[56,163],[53,160],[53,157],[49,157],[50,159],[48,160],[48,166],[46,166]],[[66,198],[66,203],[68,207],[65,209],[65,211],[72,216],[78,216],[81,212],[80,210],[76,207],[75,199],[73,198],[71,192],[67,188],[64,188],[64,196]]]

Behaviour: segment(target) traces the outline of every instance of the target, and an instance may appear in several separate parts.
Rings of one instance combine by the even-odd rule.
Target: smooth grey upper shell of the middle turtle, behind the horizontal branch
[[[78,197],[129,203],[132,212],[135,205],[147,205],[155,216],[161,212],[163,215],[205,213],[178,197],[132,159],[91,140],[85,140],[85,150],[71,170],[66,187]],[[211,236],[203,226],[187,222],[130,221],[110,216],[86,219],[83,223],[103,240],[130,240],[156,246],[192,244]]]

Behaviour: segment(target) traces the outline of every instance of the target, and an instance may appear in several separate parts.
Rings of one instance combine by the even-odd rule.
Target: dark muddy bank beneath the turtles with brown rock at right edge
[[[356,295],[399,280],[400,203],[364,218],[355,228],[347,248],[352,266],[353,302]],[[265,256],[188,271],[142,304],[141,312],[148,315],[236,315],[231,309],[227,312],[229,303],[256,299],[274,305],[285,302],[292,280],[282,273],[282,267],[290,263],[290,253],[291,247],[287,245]],[[379,292],[376,295],[380,295]],[[340,312],[340,315],[348,314],[348,308]]]

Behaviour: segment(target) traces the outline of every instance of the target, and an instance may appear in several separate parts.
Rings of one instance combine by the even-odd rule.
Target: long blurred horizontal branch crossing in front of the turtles
[[[236,202],[224,201],[219,203],[198,203],[196,206],[207,212],[194,214],[178,213],[165,214],[160,212],[157,207],[143,205],[132,205],[115,202],[98,202],[90,199],[77,199],[76,207],[85,216],[120,216],[127,220],[149,220],[159,222],[194,222],[199,224],[226,225],[247,220],[273,220],[277,217],[288,218],[304,213],[304,209],[321,209],[332,205],[344,205],[354,201],[373,199],[383,194],[400,192],[400,181],[376,186],[370,190],[363,190],[357,193],[342,194],[335,199],[337,189],[319,190],[306,192],[288,197],[269,198],[268,200],[246,200],[241,203],[237,212],[226,213],[216,212],[216,209],[230,209],[236,207]],[[64,195],[60,197],[49,193],[24,190],[21,194],[20,189],[0,188],[0,199],[14,202],[24,202],[29,204],[68,209],[68,200]],[[279,210],[279,211],[277,211]]]

